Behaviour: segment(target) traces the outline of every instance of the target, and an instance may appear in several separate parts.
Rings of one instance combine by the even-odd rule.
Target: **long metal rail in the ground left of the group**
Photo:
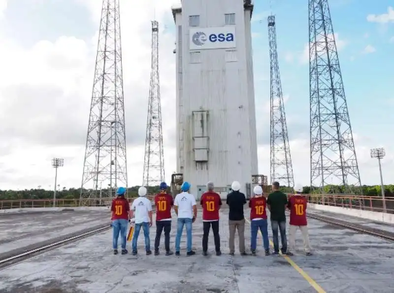
[[[87,231],[87,232],[82,232],[81,234],[68,236],[68,237],[65,236],[66,238],[64,238],[62,240],[58,240],[58,241],[55,240],[55,242],[53,242],[53,243],[50,243],[50,244],[47,244],[47,245],[43,245],[43,246],[40,246],[40,247],[37,247],[37,248],[34,248],[34,249],[30,249],[30,250],[28,250],[26,252],[23,252],[23,253],[18,253],[18,254],[15,254],[15,255],[11,255],[11,256],[2,258],[2,259],[0,259],[0,269],[3,269],[3,268],[5,268],[5,267],[7,267],[9,265],[14,264],[14,263],[20,262],[20,261],[22,261],[24,259],[33,257],[33,256],[35,256],[35,255],[37,255],[39,253],[43,253],[43,252],[55,249],[55,248],[57,248],[59,246],[62,246],[62,245],[65,245],[65,244],[69,244],[71,242],[74,242],[74,241],[77,241],[77,240],[89,237],[89,236],[94,235],[95,233],[98,233],[98,232],[106,231],[106,230],[108,230],[110,228],[111,228],[110,225],[105,225],[105,226],[102,226],[102,227],[99,227],[99,228],[95,228],[95,229]],[[12,254],[12,252],[11,252],[11,254]]]

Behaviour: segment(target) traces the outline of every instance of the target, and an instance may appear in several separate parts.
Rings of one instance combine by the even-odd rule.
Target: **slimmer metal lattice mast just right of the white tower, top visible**
[[[292,157],[287,134],[285,105],[276,48],[275,16],[268,16],[269,57],[271,65],[271,183],[294,187]]]

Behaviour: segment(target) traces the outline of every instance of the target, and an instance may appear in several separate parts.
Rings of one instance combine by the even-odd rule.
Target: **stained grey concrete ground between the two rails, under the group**
[[[228,210],[221,211],[222,219],[227,214]],[[201,256],[201,226],[197,220],[193,228],[196,256],[185,256],[185,236],[180,257],[145,256],[142,235],[140,255],[114,256],[111,232],[105,232],[0,271],[0,292],[311,293],[316,292],[310,285],[313,280],[330,293],[394,292],[391,242],[309,220],[314,256],[297,252],[291,257],[309,276],[305,279],[291,260],[263,256],[262,249],[258,256],[229,256],[226,220],[220,227],[224,255]],[[155,228],[151,230],[152,245],[154,232]],[[249,233],[247,225],[247,246]],[[212,238],[210,253],[214,250]],[[302,247],[300,240],[297,244]]]

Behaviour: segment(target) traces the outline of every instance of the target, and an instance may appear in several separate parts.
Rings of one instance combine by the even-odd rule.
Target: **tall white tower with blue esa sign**
[[[176,24],[177,172],[197,198],[212,181],[248,193],[258,174],[251,0],[182,0]]]

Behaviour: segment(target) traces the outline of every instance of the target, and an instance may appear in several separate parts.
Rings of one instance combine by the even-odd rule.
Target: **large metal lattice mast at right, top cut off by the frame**
[[[311,187],[349,192],[361,180],[328,0],[309,0],[309,84]]]

